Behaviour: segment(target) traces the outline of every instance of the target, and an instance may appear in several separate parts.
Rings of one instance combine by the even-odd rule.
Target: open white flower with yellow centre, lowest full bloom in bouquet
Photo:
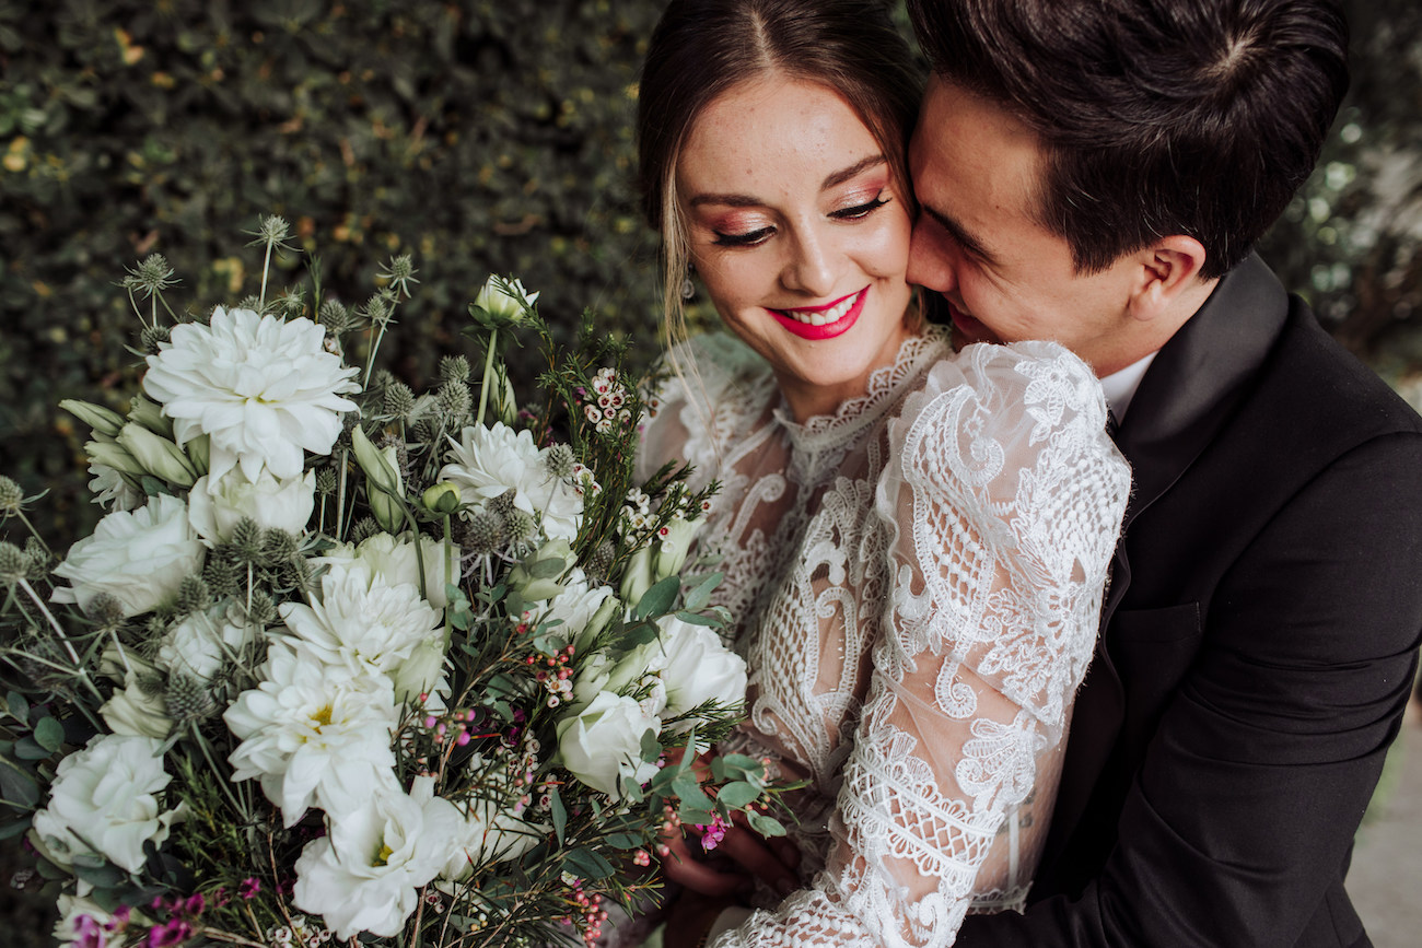
[[[398,789],[370,795],[301,850],[293,903],[320,912],[338,939],[363,931],[398,935],[419,888],[449,861],[458,827],[458,810],[434,796],[432,777],[415,777],[408,796]]]

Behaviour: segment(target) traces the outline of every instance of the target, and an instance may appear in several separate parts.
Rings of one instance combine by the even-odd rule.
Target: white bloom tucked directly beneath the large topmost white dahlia
[[[300,534],[314,509],[314,470],[277,479],[263,469],[252,480],[240,468],[233,468],[218,479],[199,478],[188,495],[188,520],[212,546],[229,542],[243,517],[250,517],[262,529]]]

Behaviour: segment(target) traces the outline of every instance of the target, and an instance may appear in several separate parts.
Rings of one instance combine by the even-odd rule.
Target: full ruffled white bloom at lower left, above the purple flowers
[[[33,833],[61,866],[98,853],[137,873],[144,843],[162,844],[178,810],[162,810],[158,796],[172,779],[164,770],[162,742],[98,735],[54,772],[50,804],[34,814]]]

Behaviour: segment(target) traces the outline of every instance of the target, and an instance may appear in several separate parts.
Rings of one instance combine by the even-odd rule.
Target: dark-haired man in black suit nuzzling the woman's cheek
[[[1324,0],[910,0],[909,279],[1102,377],[1133,496],[1025,914],[957,945],[1368,945],[1422,630],[1422,421],[1250,247],[1347,87]]]

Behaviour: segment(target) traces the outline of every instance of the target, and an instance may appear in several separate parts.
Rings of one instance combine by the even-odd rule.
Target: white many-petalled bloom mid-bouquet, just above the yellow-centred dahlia
[[[419,642],[444,634],[444,617],[418,588],[387,586],[360,563],[323,576],[319,603],[283,603],[277,611],[323,662],[351,672],[394,674]]]

